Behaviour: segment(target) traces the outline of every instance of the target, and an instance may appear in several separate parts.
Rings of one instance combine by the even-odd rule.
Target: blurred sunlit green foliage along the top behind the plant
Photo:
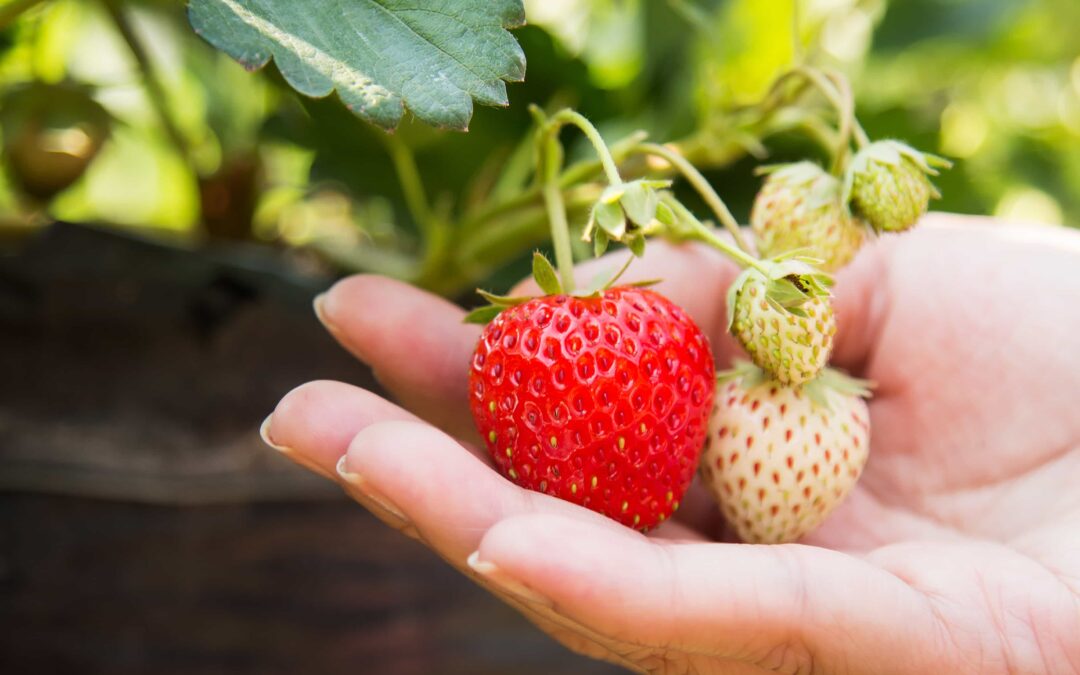
[[[936,208],[1080,225],[1076,0],[801,0],[797,17],[792,0],[530,0],[529,26],[515,31],[527,77],[510,85],[509,109],[478,107],[468,134],[406,119],[393,136],[336,97],[295,95],[273,66],[244,71],[191,31],[178,2],[21,4],[33,6],[0,10],[0,94],[75,86],[112,124],[85,173],[48,199],[18,187],[14,139],[3,139],[9,231],[59,218],[188,243],[267,242],[421,282],[430,252],[468,235],[483,255],[455,258],[458,276],[441,289],[457,293],[515,273],[518,254],[543,241],[531,205],[490,213],[529,186],[529,103],[573,106],[610,138],[645,129],[696,148],[745,218],[756,165],[816,152],[733,114],[798,55],[849,76],[870,136],[957,162]],[[588,156],[579,141],[569,150]],[[519,231],[521,245],[484,253],[497,228]]]

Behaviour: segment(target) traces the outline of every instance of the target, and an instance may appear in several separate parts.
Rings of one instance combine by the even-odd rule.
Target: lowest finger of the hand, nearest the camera
[[[890,657],[915,672],[940,664],[926,597],[824,549],[659,543],[542,514],[494,526],[476,558],[625,642],[798,672]]]

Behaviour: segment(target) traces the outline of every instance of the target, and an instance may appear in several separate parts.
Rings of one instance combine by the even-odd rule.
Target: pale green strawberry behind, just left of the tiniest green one
[[[771,257],[799,251],[827,272],[847,265],[863,245],[866,227],[843,207],[840,181],[813,162],[768,173],[750,214],[758,252]]]

